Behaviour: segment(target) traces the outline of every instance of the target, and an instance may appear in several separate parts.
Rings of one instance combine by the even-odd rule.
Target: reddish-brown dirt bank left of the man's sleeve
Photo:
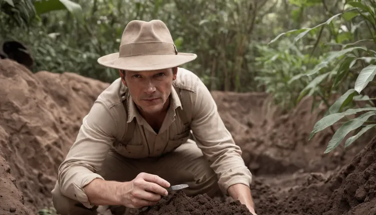
[[[0,60],[0,86],[0,151],[25,205],[35,213],[51,205],[58,166],[82,117],[108,85],[72,73],[32,74],[14,61]]]

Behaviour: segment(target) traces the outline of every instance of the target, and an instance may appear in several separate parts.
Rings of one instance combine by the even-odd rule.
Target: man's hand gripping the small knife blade
[[[130,182],[125,182],[117,196],[121,204],[129,208],[155,205],[162,196],[167,196],[170,183],[157,175],[140,173]]]

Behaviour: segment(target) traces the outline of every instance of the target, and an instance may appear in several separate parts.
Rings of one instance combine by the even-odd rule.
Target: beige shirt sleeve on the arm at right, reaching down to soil
[[[252,182],[251,172],[244,163],[240,147],[226,129],[212,94],[198,81],[196,92],[191,93],[191,96],[191,130],[198,147],[217,174],[222,192],[227,195],[228,187],[238,183],[249,187]]]

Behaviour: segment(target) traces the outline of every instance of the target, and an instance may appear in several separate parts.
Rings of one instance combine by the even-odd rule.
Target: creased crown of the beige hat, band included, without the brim
[[[161,20],[132,20],[124,29],[119,57],[177,54],[170,31]]]

